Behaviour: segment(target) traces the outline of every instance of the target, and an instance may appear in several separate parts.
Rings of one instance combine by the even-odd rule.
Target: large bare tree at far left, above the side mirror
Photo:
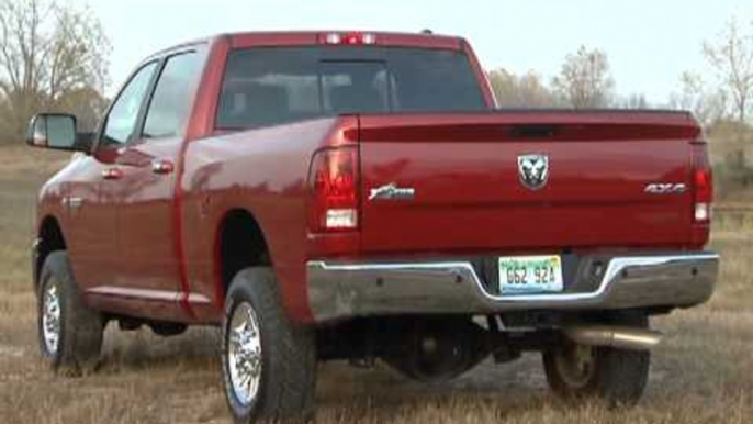
[[[55,0],[2,0],[2,137],[21,137],[32,114],[69,103],[68,96],[101,92],[109,54],[110,42],[88,10]]]

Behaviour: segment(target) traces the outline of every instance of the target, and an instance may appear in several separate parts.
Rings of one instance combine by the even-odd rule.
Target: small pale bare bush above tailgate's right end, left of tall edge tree
[[[693,112],[705,127],[723,120],[728,105],[724,90],[710,87],[700,75],[690,71],[679,76],[679,91],[670,97],[670,108]]]

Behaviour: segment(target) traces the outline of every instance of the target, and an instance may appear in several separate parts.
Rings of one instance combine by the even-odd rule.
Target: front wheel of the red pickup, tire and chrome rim
[[[102,315],[85,304],[66,252],[47,256],[37,294],[42,357],[58,372],[94,370],[102,349]]]

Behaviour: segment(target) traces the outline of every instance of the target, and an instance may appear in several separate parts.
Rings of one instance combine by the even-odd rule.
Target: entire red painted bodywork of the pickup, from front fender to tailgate
[[[244,33],[199,43],[206,62],[183,137],[79,157],[45,186],[40,223],[48,216],[60,222],[91,304],[147,319],[218,322],[224,302],[218,231],[234,210],[258,221],[284,306],[300,322],[312,321],[307,259],[706,243],[708,226],[690,223],[689,194],[651,199],[642,192],[653,180],[689,181],[688,142],[698,137],[698,127],[685,114],[346,115],[215,131],[231,48],[311,45],[324,33]],[[494,105],[462,38],[375,35],[379,45],[465,51],[486,103]],[[153,58],[171,52],[176,48]],[[516,138],[510,134],[520,124],[559,130],[546,140]],[[416,200],[409,205],[363,201],[359,231],[312,234],[310,163],[318,148],[338,144],[359,144],[363,193],[395,181],[415,186]],[[520,187],[516,156],[521,153],[551,156],[550,186],[538,192]],[[151,174],[154,159],[170,160],[173,172]],[[121,168],[120,181],[102,180],[110,167]],[[66,196],[82,197],[85,207],[77,214],[64,209]]]

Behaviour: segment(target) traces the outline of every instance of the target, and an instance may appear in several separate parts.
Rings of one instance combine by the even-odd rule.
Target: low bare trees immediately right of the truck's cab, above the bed
[[[488,80],[502,108],[551,108],[552,92],[533,70],[516,76],[505,69],[488,72]]]

